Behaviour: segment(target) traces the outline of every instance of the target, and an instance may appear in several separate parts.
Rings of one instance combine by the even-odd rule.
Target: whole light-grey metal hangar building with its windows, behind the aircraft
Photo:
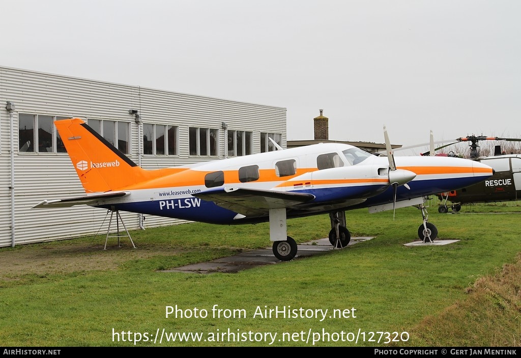
[[[84,195],[56,120],[85,120],[144,169],[275,150],[268,137],[286,147],[286,108],[140,86],[0,67],[0,105],[0,247],[107,231],[102,209],[31,209]],[[128,229],[182,222],[121,216]]]

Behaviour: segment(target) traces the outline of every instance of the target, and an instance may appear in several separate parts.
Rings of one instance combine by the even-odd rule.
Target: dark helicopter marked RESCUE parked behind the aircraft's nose
[[[521,142],[521,139],[470,135],[455,140],[456,142],[436,148],[433,152],[458,142],[469,142],[469,158],[492,167],[494,169],[494,175],[481,183],[437,194],[436,196],[443,201],[438,207],[438,212],[446,213],[451,209],[452,213],[457,213],[461,210],[463,204],[468,203],[501,202],[521,199],[521,154],[506,154],[505,151],[501,150],[501,146],[497,145],[494,147],[493,156],[480,157],[478,145],[480,140]],[[422,155],[429,154],[430,151]],[[453,152],[449,152],[448,156],[455,155]],[[447,203],[448,201],[450,204]]]

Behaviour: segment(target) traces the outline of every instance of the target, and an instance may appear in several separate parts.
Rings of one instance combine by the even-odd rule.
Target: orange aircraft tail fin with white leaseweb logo
[[[78,118],[55,121],[70,160],[87,193],[99,193],[154,177]]]

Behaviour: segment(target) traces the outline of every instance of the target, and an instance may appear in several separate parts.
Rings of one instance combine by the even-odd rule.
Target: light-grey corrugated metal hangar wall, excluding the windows
[[[15,104],[15,244],[27,244],[95,234],[106,216],[103,209],[78,206],[30,209],[44,199],[83,195],[67,154],[18,151],[18,113],[70,116],[130,123],[130,155],[139,161],[138,124],[129,109],[138,110],[143,123],[179,127],[179,155],[142,156],[142,167],[157,169],[225,157],[228,130],[253,132],[254,153],[260,151],[261,132],[282,134],[286,146],[286,109],[232,100],[159,91],[101,81],[0,67],[0,246],[11,245],[10,120],[6,102]],[[219,130],[219,156],[189,156],[190,126]],[[129,229],[138,228],[138,214],[121,213]],[[147,215],[145,227],[179,223]],[[106,232],[108,218],[101,228]]]

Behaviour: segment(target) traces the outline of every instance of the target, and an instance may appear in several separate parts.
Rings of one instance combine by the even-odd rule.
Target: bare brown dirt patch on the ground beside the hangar
[[[132,248],[130,242],[122,241],[107,245],[105,242],[85,242],[66,240],[22,245],[13,248],[0,248],[0,279],[13,279],[17,276],[34,274],[69,273],[90,270],[111,270],[123,262],[150,258],[177,250],[164,245],[138,245]]]

